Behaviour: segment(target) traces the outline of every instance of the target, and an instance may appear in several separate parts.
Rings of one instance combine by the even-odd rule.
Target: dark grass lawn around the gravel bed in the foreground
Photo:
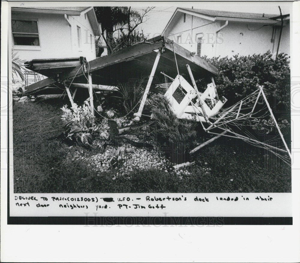
[[[116,178],[115,172],[91,170],[76,151],[51,137],[63,131],[61,107],[67,96],[45,97],[13,107],[13,164],[15,193],[223,193],[291,192],[291,169],[261,149],[220,138],[197,152],[190,175],[179,177],[160,170],[137,170]]]

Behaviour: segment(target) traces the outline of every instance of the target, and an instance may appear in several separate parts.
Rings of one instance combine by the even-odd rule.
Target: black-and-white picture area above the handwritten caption
[[[12,7],[14,192],[290,193],[289,5],[201,6]]]

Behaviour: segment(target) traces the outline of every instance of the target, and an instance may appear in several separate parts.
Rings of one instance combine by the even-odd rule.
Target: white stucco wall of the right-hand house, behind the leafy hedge
[[[193,20],[193,21],[192,21]],[[279,28],[276,29],[274,41],[271,42],[273,26],[259,23],[228,22],[228,25],[216,31],[225,24],[224,21],[211,21],[186,14],[183,22],[183,13],[167,28],[167,37],[177,43],[181,35],[181,43],[190,52],[197,53],[197,36],[202,36],[201,56],[253,55],[265,53],[268,50],[276,54],[278,45]],[[193,29],[192,29],[193,28]],[[257,29],[257,30],[256,30]],[[289,23],[283,27],[279,52],[290,54]]]

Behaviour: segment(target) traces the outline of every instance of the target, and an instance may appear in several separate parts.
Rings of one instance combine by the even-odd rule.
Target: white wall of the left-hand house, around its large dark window
[[[61,14],[13,13],[11,19],[37,20],[40,46],[14,46],[19,58],[24,60],[46,58],[73,58],[84,56],[88,61],[96,58],[95,35],[84,15],[69,16],[70,25]],[[82,47],[78,47],[77,25],[81,27]],[[92,47],[90,37],[92,34]],[[13,41],[12,41],[13,42]]]

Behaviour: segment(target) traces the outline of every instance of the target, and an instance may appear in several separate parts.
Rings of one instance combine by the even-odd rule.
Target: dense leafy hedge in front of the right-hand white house
[[[279,111],[289,110],[290,68],[287,54],[279,54],[276,60],[270,51],[251,56],[203,58],[219,70],[214,80],[218,93],[228,99],[225,106],[233,105],[255,91],[258,85],[263,85],[272,108],[276,105]],[[198,85],[204,90],[207,83],[199,79]]]

